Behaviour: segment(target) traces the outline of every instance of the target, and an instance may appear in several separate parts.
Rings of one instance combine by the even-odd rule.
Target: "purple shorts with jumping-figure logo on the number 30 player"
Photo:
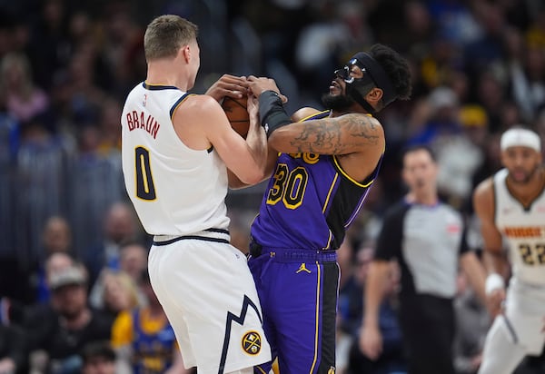
[[[251,253],[248,264],[262,305],[263,328],[280,372],[332,372],[339,288],[336,251],[253,248]],[[268,373],[270,365],[261,369]]]

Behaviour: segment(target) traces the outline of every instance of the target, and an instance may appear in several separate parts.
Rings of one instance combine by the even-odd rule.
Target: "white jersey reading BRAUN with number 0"
[[[213,150],[188,148],[172,116],[188,94],[173,86],[138,84],[121,117],[126,190],[144,230],[186,235],[229,225],[225,164]]]

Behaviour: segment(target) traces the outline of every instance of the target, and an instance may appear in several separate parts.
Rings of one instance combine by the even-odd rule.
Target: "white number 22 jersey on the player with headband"
[[[509,244],[513,276],[545,286],[545,190],[525,209],[510,194],[507,174],[502,169],[494,175],[496,226]]]

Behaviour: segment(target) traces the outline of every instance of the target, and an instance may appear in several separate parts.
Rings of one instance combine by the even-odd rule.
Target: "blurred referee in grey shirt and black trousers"
[[[438,165],[431,150],[415,146],[403,154],[401,202],[384,216],[365,288],[360,349],[381,355],[378,313],[388,284],[389,262],[401,268],[399,321],[410,374],[453,374],[453,299],[459,264],[484,300],[484,270],[469,251],[461,214],[440,201]]]

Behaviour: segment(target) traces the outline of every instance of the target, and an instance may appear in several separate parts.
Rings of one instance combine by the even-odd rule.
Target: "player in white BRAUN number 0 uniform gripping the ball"
[[[147,77],[128,94],[121,118],[124,181],[154,235],[150,278],[185,367],[252,373],[271,349],[246,258],[229,244],[224,198],[228,181],[263,180],[267,143],[256,107],[249,104],[244,140],[213,98],[222,87],[245,90],[244,79],[187,94],[200,64],[196,36],[197,26],[177,15],[147,26]]]

